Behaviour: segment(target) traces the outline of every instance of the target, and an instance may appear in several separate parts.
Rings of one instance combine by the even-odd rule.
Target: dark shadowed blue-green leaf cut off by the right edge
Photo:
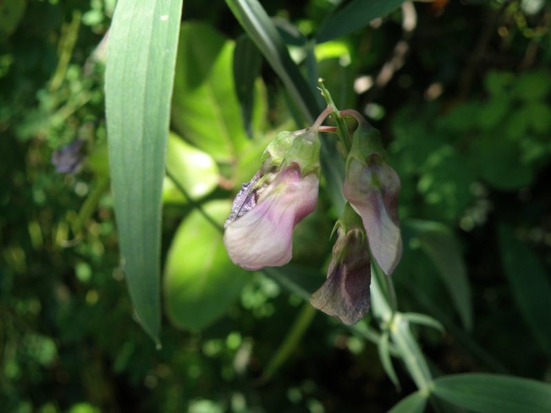
[[[499,226],[499,246],[503,271],[509,280],[514,301],[526,324],[547,354],[551,356],[551,282],[548,268],[523,244],[510,226]]]

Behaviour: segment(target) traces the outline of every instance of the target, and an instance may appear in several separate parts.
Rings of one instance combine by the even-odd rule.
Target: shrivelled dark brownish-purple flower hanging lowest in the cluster
[[[367,237],[362,220],[348,203],[335,229],[338,237],[327,279],[310,296],[310,302],[344,324],[356,324],[370,306],[371,261]]]

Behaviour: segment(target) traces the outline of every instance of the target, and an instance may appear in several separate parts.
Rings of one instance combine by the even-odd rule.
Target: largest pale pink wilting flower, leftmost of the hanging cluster
[[[282,132],[265,152],[268,158],[253,179],[242,185],[225,224],[228,255],[248,270],[287,264],[293,228],[318,202],[317,131]]]

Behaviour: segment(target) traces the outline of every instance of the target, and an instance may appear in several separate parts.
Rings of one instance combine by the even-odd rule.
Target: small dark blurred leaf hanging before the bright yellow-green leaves
[[[247,135],[253,136],[252,117],[254,109],[254,87],[260,74],[262,54],[248,36],[241,36],[233,50],[233,81],[241,104],[241,116]]]

